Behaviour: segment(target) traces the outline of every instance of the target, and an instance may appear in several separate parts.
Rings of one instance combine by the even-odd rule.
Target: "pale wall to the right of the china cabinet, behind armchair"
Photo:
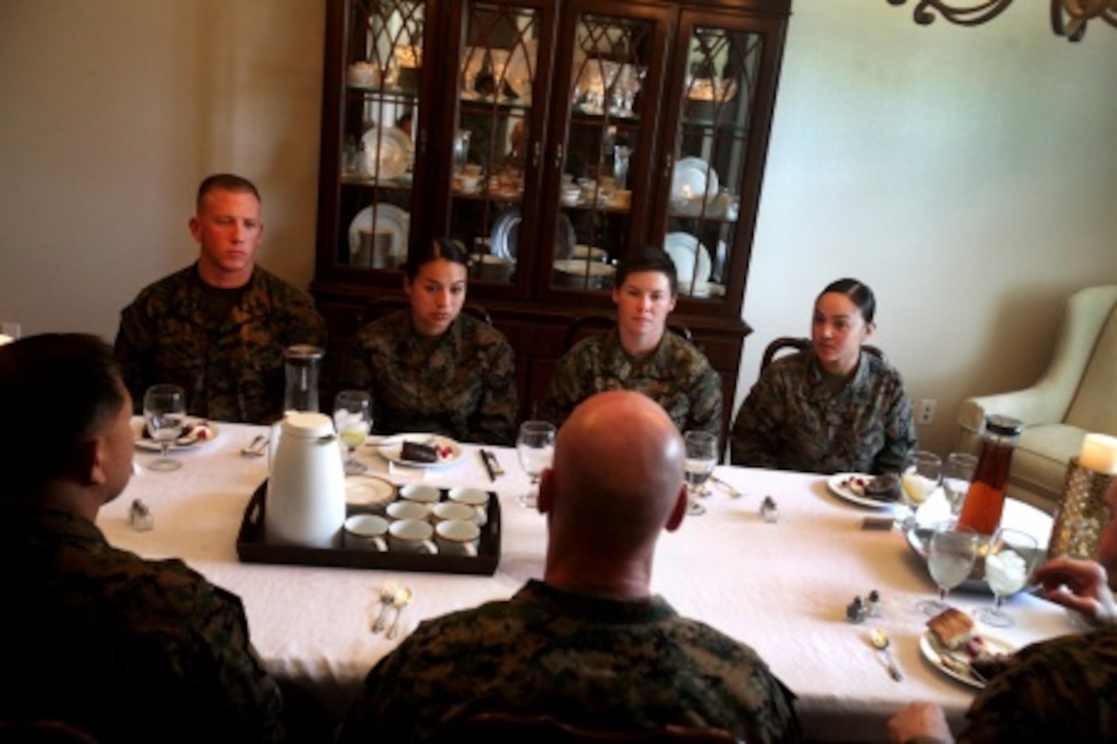
[[[796,0],[744,317],[739,395],[815,295],[877,293],[875,342],[945,452],[967,395],[1042,372],[1063,298],[1117,283],[1117,32],[1070,44],[1044,2],[917,26],[885,0]]]

